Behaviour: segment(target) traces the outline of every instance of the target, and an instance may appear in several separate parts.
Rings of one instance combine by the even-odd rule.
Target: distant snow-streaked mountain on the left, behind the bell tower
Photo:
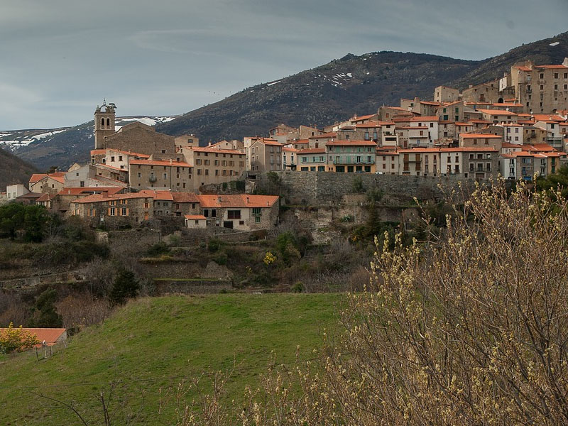
[[[116,130],[134,121],[149,126],[173,120],[169,116],[116,117]],[[72,163],[86,163],[94,147],[94,121],[59,129],[0,131],[0,147],[9,149],[40,170],[57,165],[66,169]]]

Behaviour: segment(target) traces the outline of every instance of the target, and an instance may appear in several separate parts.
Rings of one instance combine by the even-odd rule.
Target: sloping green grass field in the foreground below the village
[[[322,329],[337,327],[342,295],[210,295],[145,298],[131,302],[98,327],[73,337],[66,349],[36,361],[35,353],[0,356],[0,425],[76,425],[77,417],[32,393],[70,403],[99,425],[95,396],[117,381],[112,408],[136,410],[136,424],[172,424],[158,415],[160,388],[204,371],[236,370],[227,386],[239,400],[256,386],[271,354],[278,364],[312,357]],[[191,393],[187,399],[192,398]],[[119,408],[120,407],[120,408]],[[171,409],[171,406],[170,406]],[[122,414],[115,423],[124,424]]]

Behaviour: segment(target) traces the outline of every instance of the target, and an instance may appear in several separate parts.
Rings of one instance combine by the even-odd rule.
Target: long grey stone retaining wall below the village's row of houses
[[[354,193],[354,180],[361,178],[364,192],[376,188],[386,198],[379,204],[406,205],[418,200],[431,200],[442,197],[438,185],[448,188],[457,187],[459,179],[454,177],[423,177],[400,175],[375,175],[368,173],[329,173],[329,172],[275,172],[281,180],[280,195],[285,198],[285,204],[307,205],[342,205],[349,202]],[[271,186],[266,173],[259,173],[254,185],[248,185],[247,190],[262,190]],[[466,188],[474,187],[473,180],[461,180]],[[250,182],[249,182],[250,183]],[[388,200],[388,202],[386,202]],[[284,204],[284,203],[283,203]]]

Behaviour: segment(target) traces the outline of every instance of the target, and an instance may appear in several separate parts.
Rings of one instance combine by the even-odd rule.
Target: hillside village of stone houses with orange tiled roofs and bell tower
[[[568,160],[568,58],[520,62],[499,80],[461,92],[440,86],[432,95],[322,129],[280,124],[267,136],[208,146],[140,122],[115,131],[116,106],[104,102],[94,112],[91,162],[34,174],[28,187],[10,185],[6,201],[40,204],[94,227],[178,217],[188,228],[268,229],[277,222],[278,195],[212,195],[210,188],[282,171],[532,180]]]

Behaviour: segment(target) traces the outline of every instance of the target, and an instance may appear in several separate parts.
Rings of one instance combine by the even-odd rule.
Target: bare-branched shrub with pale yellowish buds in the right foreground
[[[565,424],[567,241],[559,192],[480,188],[429,244],[384,241],[319,361],[269,368],[244,407],[215,376],[177,424]]]

